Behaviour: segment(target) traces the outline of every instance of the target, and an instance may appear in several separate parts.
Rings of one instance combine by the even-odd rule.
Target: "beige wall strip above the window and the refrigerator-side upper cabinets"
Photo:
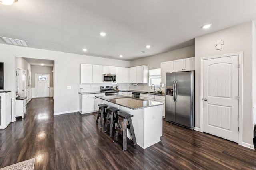
[[[172,61],[177,59],[184,59],[195,56],[195,46],[189,46],[166,53],[152,55],[141,59],[130,61],[130,67],[146,65],[148,69],[160,68],[160,63],[164,61]]]

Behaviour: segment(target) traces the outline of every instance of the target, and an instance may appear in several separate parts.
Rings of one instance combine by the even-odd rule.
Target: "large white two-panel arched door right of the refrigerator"
[[[203,61],[203,131],[238,142],[239,57]]]

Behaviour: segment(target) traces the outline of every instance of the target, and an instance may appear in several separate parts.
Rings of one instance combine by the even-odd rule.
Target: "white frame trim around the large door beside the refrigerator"
[[[203,75],[204,75],[204,60],[215,59],[221,57],[229,57],[238,55],[239,69],[238,69],[238,145],[242,145],[242,135],[243,135],[243,52],[229,53],[223,55],[215,55],[210,57],[202,57],[200,63],[200,131],[203,130]]]

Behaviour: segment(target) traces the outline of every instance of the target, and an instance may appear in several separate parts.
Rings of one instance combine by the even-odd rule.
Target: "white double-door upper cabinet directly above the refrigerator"
[[[172,72],[192,70],[195,70],[195,57],[172,61]]]

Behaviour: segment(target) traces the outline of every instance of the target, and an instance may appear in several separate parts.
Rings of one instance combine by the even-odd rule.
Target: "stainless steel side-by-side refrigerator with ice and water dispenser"
[[[194,129],[195,72],[166,73],[165,120]]]

